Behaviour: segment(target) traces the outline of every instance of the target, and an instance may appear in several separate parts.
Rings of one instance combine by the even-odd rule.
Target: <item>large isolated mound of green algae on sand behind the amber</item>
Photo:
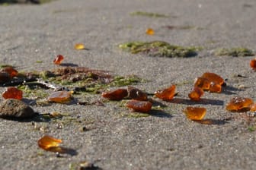
[[[202,47],[183,47],[170,45],[168,42],[126,42],[119,45],[120,49],[132,54],[144,53],[156,57],[180,57],[187,58],[197,55]]]

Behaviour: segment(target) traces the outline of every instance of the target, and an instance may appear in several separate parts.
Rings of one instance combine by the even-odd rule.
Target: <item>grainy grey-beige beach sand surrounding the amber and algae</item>
[[[170,17],[131,16],[133,11]],[[168,30],[168,25],[191,28]],[[146,35],[148,27],[155,30],[154,36]],[[256,50],[255,27],[254,0],[59,0],[0,6],[1,64],[14,65],[19,71],[43,71],[56,68],[53,58],[62,54],[66,63],[123,76],[136,74],[148,80],[136,87],[149,93],[179,84],[174,101],[162,102],[168,105],[166,112],[146,118],[123,117],[128,109],[119,102],[107,102],[105,107],[33,105],[39,113],[69,113],[77,119],[62,128],[55,121],[37,122],[46,131],[35,130],[31,121],[0,119],[0,167],[72,169],[78,162],[88,161],[103,169],[254,169],[256,134],[248,131],[251,125],[240,113],[225,109],[234,96],[256,99],[256,73],[248,64],[254,57],[216,57],[213,50],[241,46]],[[138,40],[203,46],[203,50],[193,58],[153,58],[117,47]],[[89,50],[75,50],[77,42]],[[228,86],[220,94],[205,93],[201,102],[190,102],[187,94],[194,78],[206,71],[220,74]],[[215,124],[187,120],[182,113],[187,105],[205,107],[206,119]],[[79,131],[83,126],[91,130]],[[59,158],[41,150],[37,140],[43,134],[62,139],[62,146],[78,154]]]

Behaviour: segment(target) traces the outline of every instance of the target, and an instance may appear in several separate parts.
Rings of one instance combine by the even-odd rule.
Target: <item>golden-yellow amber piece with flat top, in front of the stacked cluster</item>
[[[200,121],[206,115],[206,109],[200,107],[187,107],[184,114],[192,121]]]

